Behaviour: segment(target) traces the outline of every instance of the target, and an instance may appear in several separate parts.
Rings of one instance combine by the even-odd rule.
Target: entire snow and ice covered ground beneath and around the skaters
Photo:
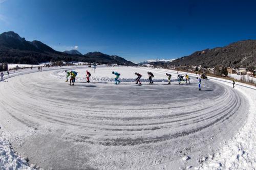
[[[78,72],[75,86],[65,82],[65,69]],[[12,151],[8,139],[23,157],[11,154],[10,166],[21,169],[32,168],[25,160],[45,169],[255,167],[249,145],[256,134],[253,87],[233,89],[209,78],[198,91],[194,75],[190,84],[179,85],[176,71],[149,70],[153,85],[146,80],[148,69],[137,67],[97,67],[95,73],[67,67],[1,82],[1,161]],[[120,85],[113,85],[112,71],[121,74]],[[134,84],[135,71],[143,75],[142,86]]]

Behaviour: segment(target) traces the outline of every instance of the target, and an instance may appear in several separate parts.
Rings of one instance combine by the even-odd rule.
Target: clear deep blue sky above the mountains
[[[256,1],[0,0],[0,32],[133,62],[256,39]]]

